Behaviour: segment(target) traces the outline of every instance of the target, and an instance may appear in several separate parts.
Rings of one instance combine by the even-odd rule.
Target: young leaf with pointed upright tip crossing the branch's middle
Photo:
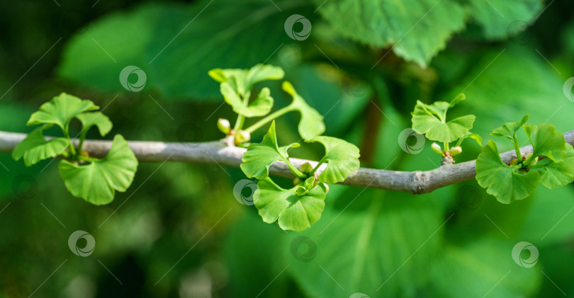
[[[271,122],[269,131],[260,143],[249,144],[247,151],[241,159],[241,169],[249,178],[259,180],[269,176],[269,167],[275,161],[288,159],[287,149],[299,147],[298,143],[278,147],[275,133],[275,121]]]

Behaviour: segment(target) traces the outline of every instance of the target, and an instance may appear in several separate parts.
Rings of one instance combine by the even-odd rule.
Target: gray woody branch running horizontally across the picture
[[[16,144],[22,141],[26,134],[0,131],[0,152],[10,152]],[[566,142],[574,145],[574,130],[565,132]],[[201,143],[174,143],[174,142],[142,142],[129,141],[130,148],[140,161],[162,162],[181,161],[198,164],[218,164],[220,166],[239,167],[245,149],[240,147],[230,147],[225,142],[201,142]],[[91,156],[101,157],[108,153],[111,141],[86,140],[84,150]],[[532,152],[531,146],[520,148],[522,154]],[[510,164],[516,158],[514,150],[500,154],[502,161]],[[306,162],[312,166],[317,161],[305,159],[291,159],[295,166],[300,166]],[[359,168],[359,171],[351,173],[346,180],[340,184],[360,186],[364,188],[380,188],[383,190],[394,190],[404,193],[421,194],[430,193],[437,188],[454,183],[471,180],[475,177],[475,162],[466,161],[460,164],[440,166],[430,171],[387,171],[374,168]],[[324,168],[325,165],[322,166]],[[322,171],[320,168],[318,171]],[[269,169],[275,176],[294,178],[293,174],[282,162],[276,162]]]

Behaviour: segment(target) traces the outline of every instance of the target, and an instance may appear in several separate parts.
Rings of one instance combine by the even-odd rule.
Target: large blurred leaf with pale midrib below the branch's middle
[[[360,193],[359,193],[360,191]],[[312,260],[293,260],[293,277],[310,297],[344,297],[355,292],[369,297],[415,294],[428,277],[428,263],[441,243],[444,219],[431,195],[351,190],[339,200],[354,208],[327,209],[317,224],[297,234],[316,243]],[[392,195],[392,197],[390,197]],[[371,205],[372,204],[372,205]]]

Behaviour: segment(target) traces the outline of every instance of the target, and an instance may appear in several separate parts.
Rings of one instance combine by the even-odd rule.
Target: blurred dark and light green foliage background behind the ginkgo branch
[[[574,102],[563,93],[574,73],[567,1],[311,2],[2,1],[0,130],[29,132],[30,113],[65,91],[100,105],[114,123],[110,136],[219,139],[215,123],[232,111],[208,69],[261,62],[286,70],[325,115],[325,134],[359,146],[361,166],[436,168],[431,142],[407,154],[398,136],[415,101],[460,92],[467,101],[452,116],[475,114],[473,132],[484,140],[524,114],[574,129]],[[293,14],[313,24],[309,38],[288,37]],[[118,81],[128,65],[147,74],[139,93]],[[276,106],[288,103],[278,82],[266,86]],[[278,121],[281,144],[299,139],[297,118]],[[475,159],[480,148],[464,145],[458,161]],[[293,154],[316,159],[320,150]],[[237,168],[142,163],[132,187],[98,207],[72,197],[49,161],[26,168],[1,153],[0,162],[0,297],[574,293],[571,185],[538,188],[512,205],[474,180],[418,196],[331,185],[322,219],[296,233],[235,200]],[[67,246],[79,229],[96,239],[86,258]],[[519,241],[538,248],[534,267],[514,263]]]

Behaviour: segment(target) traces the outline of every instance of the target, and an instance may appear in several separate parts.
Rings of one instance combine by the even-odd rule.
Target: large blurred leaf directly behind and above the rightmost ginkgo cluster
[[[464,91],[467,100],[458,109],[476,115],[473,132],[485,136],[526,114],[529,122],[549,123],[559,132],[574,128],[574,105],[562,93],[564,80],[535,50],[510,46],[481,52],[474,60],[458,86],[449,86],[450,92],[440,96],[451,98]],[[519,140],[520,146],[528,142],[520,136]],[[500,151],[512,149],[510,142],[500,145],[505,145]]]

